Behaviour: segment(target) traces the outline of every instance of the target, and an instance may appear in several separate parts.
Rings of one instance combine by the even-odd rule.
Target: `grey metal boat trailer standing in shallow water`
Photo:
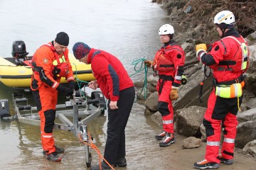
[[[55,118],[58,118],[62,123],[55,123],[54,127],[58,130],[70,131],[80,139],[80,142],[90,144],[92,140],[89,139],[87,132],[87,123],[97,118],[105,112],[105,97],[101,91],[92,91],[90,99],[84,91],[74,91],[73,98],[66,101],[65,104],[58,104],[56,108],[69,108],[63,111],[56,111]],[[37,113],[37,108],[28,105],[28,99],[23,97],[23,94],[13,94],[14,111],[18,122],[30,125],[40,126],[40,117]],[[73,108],[73,109],[72,109]],[[36,111],[36,113],[33,113]],[[82,119],[80,116],[84,115]],[[67,116],[73,116],[71,122]],[[92,155],[90,153],[89,145],[85,145],[85,163],[90,167],[92,162]]]

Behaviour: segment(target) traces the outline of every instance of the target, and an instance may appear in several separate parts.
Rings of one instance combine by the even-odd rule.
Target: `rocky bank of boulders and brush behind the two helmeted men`
[[[184,75],[188,79],[186,85],[181,85],[178,91],[179,98],[174,101],[174,126],[176,135],[188,137],[183,142],[184,148],[200,147],[201,142],[206,142],[206,132],[203,127],[203,115],[206,111],[207,100],[212,89],[211,77],[206,78],[203,86],[201,103],[198,100],[199,84],[204,79],[203,65],[196,58],[195,45],[201,42],[211,44],[219,40],[214,30],[213,17],[218,11],[233,11],[237,18],[237,28],[240,34],[247,40],[250,48],[250,68],[247,70],[247,82],[244,88],[241,111],[238,113],[238,132],[235,147],[243,154],[256,157],[256,26],[255,7],[252,1],[164,1],[155,0],[154,3],[168,11],[170,23],[183,28],[182,33],[175,34],[176,40],[186,52],[186,71]],[[204,3],[204,4],[202,4]],[[230,6],[230,4],[232,6]],[[229,5],[229,6],[228,6]],[[246,10],[245,10],[246,8]],[[240,11],[238,11],[240,9]],[[252,16],[251,18],[245,17]],[[248,24],[250,23],[250,24]],[[150,74],[149,74],[150,75]],[[155,89],[158,77],[151,74],[147,77],[148,94],[140,89],[137,93],[140,103],[146,106],[145,115],[161,127],[161,114],[157,111],[158,96]],[[138,83],[139,84],[139,83]],[[146,95],[146,100],[144,96]]]

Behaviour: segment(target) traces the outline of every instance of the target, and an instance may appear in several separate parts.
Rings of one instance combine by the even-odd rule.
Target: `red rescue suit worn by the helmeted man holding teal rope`
[[[174,133],[174,108],[169,97],[171,86],[181,84],[185,54],[174,40],[161,47],[154,57],[153,67],[159,74],[156,91],[159,94],[158,111],[162,115],[165,132]]]

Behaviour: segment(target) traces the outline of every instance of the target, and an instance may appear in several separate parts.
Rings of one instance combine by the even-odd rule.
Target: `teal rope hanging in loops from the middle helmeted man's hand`
[[[144,83],[143,83],[143,87],[142,87],[142,91],[144,90],[144,99],[146,100],[146,95],[147,95],[147,86],[146,86],[146,77],[147,77],[147,72],[148,72],[148,67],[146,66],[146,64],[144,64],[144,61],[146,61],[146,59],[138,59],[138,60],[135,60],[134,62],[132,62],[132,65],[134,65],[134,71],[135,73],[130,75],[129,77],[132,77],[134,76],[135,74],[139,73],[139,72],[142,72],[144,70]],[[137,69],[137,65],[140,64],[140,67],[139,69]],[[141,96],[142,94],[142,91],[140,92],[140,94],[137,96],[137,99],[136,101],[139,99],[139,96]],[[134,101],[134,103],[136,102]]]

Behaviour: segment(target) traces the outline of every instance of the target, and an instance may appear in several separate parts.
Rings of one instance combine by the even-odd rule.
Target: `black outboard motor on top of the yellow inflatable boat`
[[[11,55],[16,59],[25,59],[28,52],[26,52],[26,45],[23,40],[16,40],[13,42]]]

